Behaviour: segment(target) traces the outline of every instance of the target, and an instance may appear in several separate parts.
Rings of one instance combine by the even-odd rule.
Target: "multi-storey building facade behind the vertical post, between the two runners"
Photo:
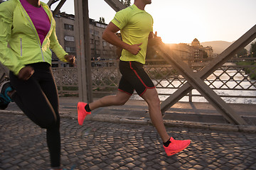
[[[63,46],[64,50],[70,55],[76,55],[76,44],[75,44],[75,16],[67,13],[58,13],[55,16],[56,21],[56,35],[60,45]],[[106,23],[100,23],[93,19],[90,19],[90,50],[91,60],[115,60],[116,47],[111,45],[102,39],[102,33],[107,27]],[[58,58],[53,54],[53,62],[58,62]],[[95,66],[92,63],[92,66]],[[53,67],[68,67],[68,64],[58,62]]]

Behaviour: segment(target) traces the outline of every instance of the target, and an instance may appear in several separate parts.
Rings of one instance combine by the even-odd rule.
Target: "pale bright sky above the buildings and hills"
[[[116,13],[104,0],[88,0],[88,6],[95,21],[104,17],[110,23]],[[74,14],[74,1],[67,0],[60,11]],[[194,38],[233,42],[256,24],[256,0],[152,0],[145,11],[165,43],[191,43]]]

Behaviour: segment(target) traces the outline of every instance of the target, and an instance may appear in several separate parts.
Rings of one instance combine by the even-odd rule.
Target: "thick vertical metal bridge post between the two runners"
[[[78,59],[78,91],[81,101],[92,102],[88,1],[75,1],[75,40]]]

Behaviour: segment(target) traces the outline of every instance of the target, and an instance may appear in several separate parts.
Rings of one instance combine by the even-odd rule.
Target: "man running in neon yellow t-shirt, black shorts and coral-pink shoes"
[[[153,18],[144,11],[147,4],[151,4],[151,0],[134,0],[132,6],[117,12],[107,26],[102,38],[123,49],[119,62],[119,70],[122,74],[119,91],[115,96],[105,96],[92,103],[79,102],[78,123],[82,125],[85,116],[91,114],[95,108],[124,105],[135,89],[148,104],[151,121],[159,132],[166,154],[171,156],[188,147],[191,141],[174,140],[167,134],[161,115],[159,96],[153,82],[143,69],[148,42],[159,40],[154,38]],[[115,35],[119,30],[122,40]]]

